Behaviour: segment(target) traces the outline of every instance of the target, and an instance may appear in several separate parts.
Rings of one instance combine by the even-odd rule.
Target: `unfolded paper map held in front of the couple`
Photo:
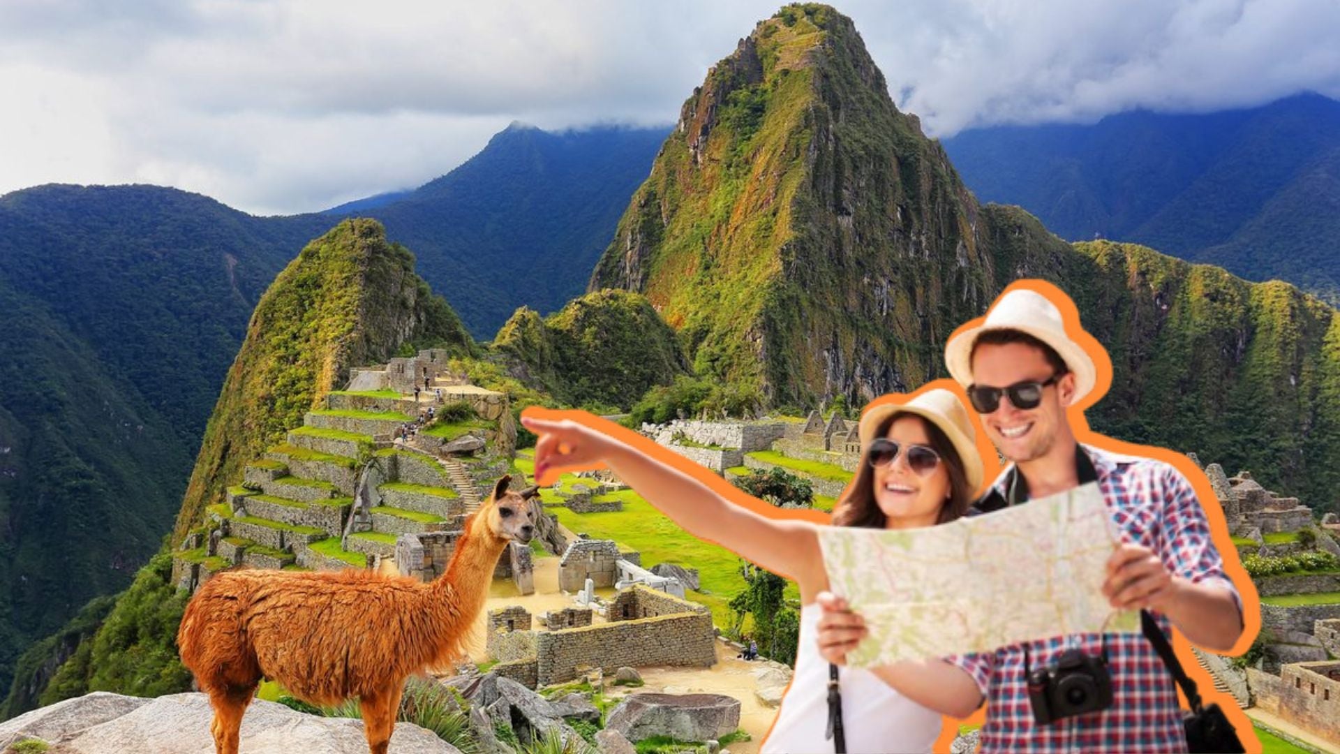
[[[903,531],[820,527],[829,590],[870,636],[852,667],[996,649],[1065,633],[1138,632],[1103,597],[1114,537],[1097,484]],[[1111,618],[1111,620],[1108,620]]]

